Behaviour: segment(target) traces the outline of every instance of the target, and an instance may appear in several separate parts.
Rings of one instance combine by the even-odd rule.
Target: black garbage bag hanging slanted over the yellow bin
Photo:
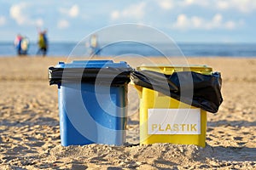
[[[136,85],[153,89],[212,113],[218,111],[223,101],[219,72],[203,75],[193,71],[180,71],[165,75],[155,71],[131,71],[131,80]]]

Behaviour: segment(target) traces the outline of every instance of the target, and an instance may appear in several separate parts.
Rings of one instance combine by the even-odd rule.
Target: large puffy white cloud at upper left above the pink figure
[[[30,8],[30,5],[28,3],[14,4],[9,9],[9,15],[20,26],[22,25],[44,26],[44,20],[42,19],[32,20],[31,16],[28,14],[28,11],[30,11],[29,8]]]

